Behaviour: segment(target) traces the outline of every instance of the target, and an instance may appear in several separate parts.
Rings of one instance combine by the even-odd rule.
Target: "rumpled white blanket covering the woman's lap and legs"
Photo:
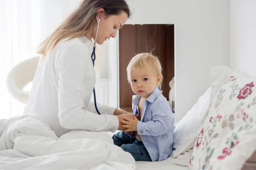
[[[70,131],[58,139],[49,125],[38,118],[32,116],[22,118],[9,123],[0,137],[0,169],[136,169],[131,154],[115,146],[107,133],[98,135],[99,133],[82,130]],[[1,123],[2,120],[0,120],[0,129],[3,130],[5,125]],[[87,135],[90,137],[79,138],[84,137],[84,134],[81,135],[83,132],[90,134]]]

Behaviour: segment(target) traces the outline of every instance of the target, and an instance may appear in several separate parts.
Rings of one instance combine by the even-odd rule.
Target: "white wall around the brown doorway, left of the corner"
[[[209,68],[229,66],[229,0],[127,2],[134,15],[126,24],[175,24],[177,122],[209,88]]]

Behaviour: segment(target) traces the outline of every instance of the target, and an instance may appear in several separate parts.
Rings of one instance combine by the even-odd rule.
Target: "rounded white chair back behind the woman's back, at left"
[[[29,100],[29,91],[23,89],[33,81],[38,61],[39,56],[26,59],[15,65],[7,75],[6,84],[9,93],[24,104]]]

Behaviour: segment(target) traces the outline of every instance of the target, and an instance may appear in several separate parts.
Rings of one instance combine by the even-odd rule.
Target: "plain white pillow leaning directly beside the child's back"
[[[175,125],[176,127],[173,132],[173,157],[177,157],[193,147],[198,130],[204,122],[209,108],[210,94],[211,88],[208,88],[190,111]]]

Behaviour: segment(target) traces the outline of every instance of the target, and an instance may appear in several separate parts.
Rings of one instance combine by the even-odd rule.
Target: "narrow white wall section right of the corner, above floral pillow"
[[[255,0],[230,0],[230,68],[256,77]]]

